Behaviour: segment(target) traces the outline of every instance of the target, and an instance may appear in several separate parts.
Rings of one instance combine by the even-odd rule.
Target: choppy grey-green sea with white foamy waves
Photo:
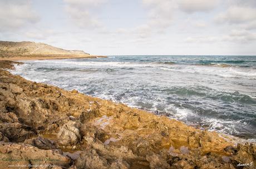
[[[28,80],[256,138],[256,57],[109,56],[26,61],[16,68],[13,73]]]

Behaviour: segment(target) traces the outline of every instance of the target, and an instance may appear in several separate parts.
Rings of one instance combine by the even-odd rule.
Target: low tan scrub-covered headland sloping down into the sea
[[[65,50],[45,43],[0,41],[1,60],[95,58],[82,50]]]

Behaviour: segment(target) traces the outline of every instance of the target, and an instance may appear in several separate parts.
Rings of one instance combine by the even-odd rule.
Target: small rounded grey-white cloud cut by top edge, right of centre
[[[215,8],[219,0],[179,0],[179,9],[186,13],[206,12]]]

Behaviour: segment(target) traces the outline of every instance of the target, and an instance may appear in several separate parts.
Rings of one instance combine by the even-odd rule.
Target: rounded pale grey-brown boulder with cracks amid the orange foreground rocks
[[[75,121],[68,121],[57,134],[58,143],[61,145],[75,145],[81,140],[79,124]]]

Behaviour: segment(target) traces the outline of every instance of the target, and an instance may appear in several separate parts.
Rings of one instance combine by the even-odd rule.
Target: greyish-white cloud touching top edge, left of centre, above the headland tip
[[[97,8],[106,0],[63,0],[65,10],[78,27],[100,28],[103,27],[95,16],[91,14],[91,9]]]

